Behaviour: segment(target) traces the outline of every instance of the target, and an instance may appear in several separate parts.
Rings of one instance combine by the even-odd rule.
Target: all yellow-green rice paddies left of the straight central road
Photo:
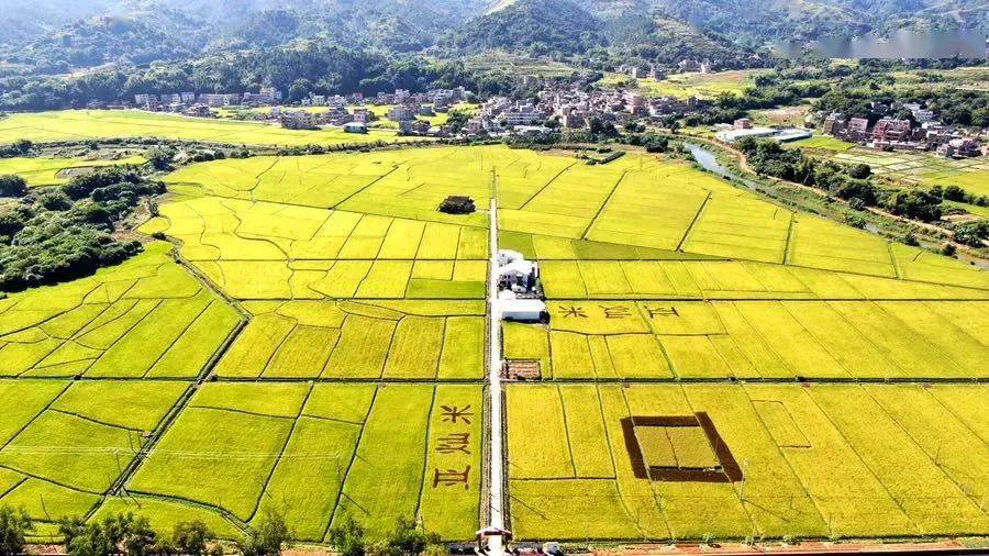
[[[85,446],[62,423],[19,432],[11,422],[10,442],[51,452],[54,470],[0,456],[11,480],[0,503],[31,497],[27,510],[51,534],[63,515],[135,511],[163,530],[199,518],[233,538],[274,510],[307,542],[324,542],[347,516],[373,536],[399,518],[444,538],[473,536],[485,467],[487,219],[436,207],[455,193],[488,199],[491,179],[480,159],[447,155],[434,169],[414,157],[187,168],[142,229],[175,245],[0,301],[0,353],[16,383],[113,378],[144,396],[167,378],[177,388],[157,421],[126,423],[130,436],[90,434]],[[235,191],[243,182],[252,186]],[[52,381],[27,382],[35,377]],[[104,419],[84,409],[74,419]],[[64,483],[84,464],[63,462],[90,452],[103,458],[99,480]]]

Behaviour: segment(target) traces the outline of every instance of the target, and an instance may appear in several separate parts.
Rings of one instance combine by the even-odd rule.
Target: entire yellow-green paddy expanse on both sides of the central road
[[[323,543],[486,524],[486,280],[540,262],[548,323],[502,325],[523,540],[989,534],[989,279],[682,163],[435,147],[196,164],[164,234],[0,299],[0,504],[201,519]],[[451,194],[478,212],[436,210]],[[159,235],[156,235],[160,237]],[[496,455],[499,457],[501,455]]]

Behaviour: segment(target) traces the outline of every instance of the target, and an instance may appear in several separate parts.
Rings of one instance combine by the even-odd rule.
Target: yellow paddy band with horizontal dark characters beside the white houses
[[[505,324],[504,357],[544,379],[980,378],[985,301],[548,303]]]

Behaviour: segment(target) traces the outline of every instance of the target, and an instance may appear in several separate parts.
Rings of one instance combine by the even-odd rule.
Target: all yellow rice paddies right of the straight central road
[[[540,370],[505,400],[518,537],[989,532],[963,463],[989,455],[985,273],[684,166],[555,190],[571,171],[497,182],[501,246],[548,297],[548,323],[502,325]]]

